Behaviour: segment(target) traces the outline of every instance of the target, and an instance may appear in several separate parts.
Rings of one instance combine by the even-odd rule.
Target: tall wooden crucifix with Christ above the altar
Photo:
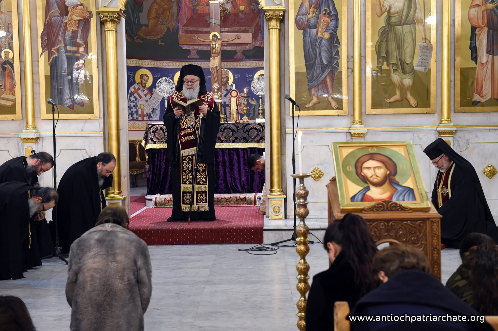
[[[221,49],[222,44],[250,44],[252,43],[251,33],[223,33],[220,27],[220,0],[209,1],[209,30],[210,34],[179,34],[178,44],[180,45],[201,45],[211,43],[211,57],[209,60],[211,69],[211,85],[218,83],[218,92],[221,93]],[[212,90],[214,92],[214,89]]]

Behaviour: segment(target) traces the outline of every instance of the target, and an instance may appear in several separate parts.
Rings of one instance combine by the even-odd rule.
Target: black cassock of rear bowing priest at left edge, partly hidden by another
[[[36,184],[38,182],[38,175],[28,176],[25,171],[27,165],[26,157],[13,158],[0,165],[0,184],[9,181],[24,182],[29,185]],[[46,220],[35,222],[34,231],[38,238],[40,256],[52,256],[54,245]]]

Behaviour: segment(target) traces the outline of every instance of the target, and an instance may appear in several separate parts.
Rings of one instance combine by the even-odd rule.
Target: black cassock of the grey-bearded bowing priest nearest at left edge
[[[27,268],[41,265],[35,226],[45,221],[29,218],[32,188],[18,181],[0,184],[0,280],[23,278]]]

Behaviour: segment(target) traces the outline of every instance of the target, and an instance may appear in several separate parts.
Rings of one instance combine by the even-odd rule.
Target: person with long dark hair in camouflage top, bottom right
[[[446,287],[481,315],[498,315],[498,246],[484,234],[469,234],[465,238],[470,235],[474,235],[471,238],[474,245],[468,248],[467,256],[455,272],[458,276],[452,275]]]

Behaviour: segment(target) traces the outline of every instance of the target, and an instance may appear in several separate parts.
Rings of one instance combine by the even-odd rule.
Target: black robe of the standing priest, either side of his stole
[[[168,101],[166,112],[163,116],[164,125],[168,134],[167,150],[168,160],[171,162],[171,193],[173,195],[173,212],[171,217],[177,220],[187,220],[188,211],[183,212],[181,208],[181,191],[180,191],[180,146],[178,143],[178,131],[180,120],[175,117],[171,102]],[[213,109],[208,111],[201,123],[201,136],[199,137],[198,158],[200,163],[208,167],[208,210],[192,211],[191,218],[197,220],[215,220],[215,172],[214,160],[216,149],[216,138],[220,128],[220,111],[214,103]]]

